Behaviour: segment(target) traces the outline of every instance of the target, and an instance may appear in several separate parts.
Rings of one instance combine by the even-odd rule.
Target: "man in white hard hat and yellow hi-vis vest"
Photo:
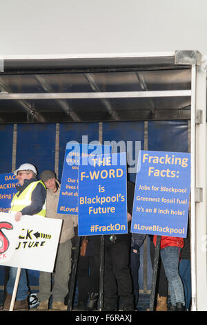
[[[19,182],[10,209],[10,213],[14,213],[15,221],[18,222],[23,215],[46,216],[46,187],[41,180],[37,179],[37,169],[34,165],[23,164],[14,171],[14,175],[17,175]],[[16,275],[17,268],[10,268],[3,310],[10,308]],[[25,269],[21,269],[14,310],[28,310],[28,285]]]

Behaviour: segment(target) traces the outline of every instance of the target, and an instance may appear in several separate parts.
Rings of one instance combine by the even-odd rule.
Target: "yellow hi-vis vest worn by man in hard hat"
[[[19,196],[17,196],[17,194],[19,193],[19,192],[17,192],[14,195],[14,198],[12,199],[10,213],[21,211],[24,207],[27,207],[28,205],[30,205],[32,203],[32,201],[31,201],[32,192],[34,191],[34,189],[38,183],[41,183],[43,185],[43,187],[46,188],[46,186],[44,185],[44,183],[41,180],[37,180],[36,182],[30,183],[30,185],[28,185],[26,187],[26,189],[24,189],[23,192],[21,192],[21,194]],[[46,201],[42,207],[42,210],[39,213],[34,214],[34,215],[35,216],[46,216]]]

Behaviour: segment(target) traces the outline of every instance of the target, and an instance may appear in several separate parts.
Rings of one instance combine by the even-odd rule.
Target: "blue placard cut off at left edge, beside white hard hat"
[[[0,174],[0,212],[9,212],[12,198],[17,193],[15,187],[18,184],[16,175]]]

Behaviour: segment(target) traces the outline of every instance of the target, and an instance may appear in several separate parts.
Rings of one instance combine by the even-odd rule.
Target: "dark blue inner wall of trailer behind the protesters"
[[[9,173],[21,163],[37,166],[39,174],[43,169],[55,170],[59,180],[63,169],[63,158],[68,141],[94,140],[141,141],[141,149],[157,151],[182,151],[189,148],[188,121],[150,122],[90,122],[60,124],[1,124],[0,125],[0,174]],[[84,138],[82,138],[85,136]],[[121,149],[119,149],[120,151]],[[135,154],[135,153],[133,153]],[[135,182],[135,173],[128,174]],[[140,252],[139,287],[144,293],[150,290],[152,267],[149,254],[149,240],[146,239]],[[0,266],[0,285],[3,286],[4,272]],[[37,289],[39,272],[29,270],[30,286]]]

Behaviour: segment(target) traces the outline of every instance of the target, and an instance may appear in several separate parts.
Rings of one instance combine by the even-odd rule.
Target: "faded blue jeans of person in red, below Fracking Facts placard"
[[[184,287],[178,272],[179,254],[180,248],[175,246],[167,246],[160,250],[161,261],[168,279],[172,306],[176,306],[177,302],[181,302],[185,306]]]

